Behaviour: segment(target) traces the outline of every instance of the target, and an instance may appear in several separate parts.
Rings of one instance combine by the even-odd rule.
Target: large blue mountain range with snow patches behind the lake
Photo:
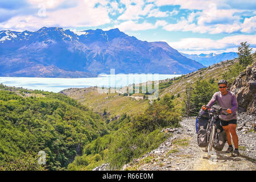
[[[185,74],[204,65],[166,42],[146,42],[118,28],[0,31],[0,76],[97,77],[100,73]]]

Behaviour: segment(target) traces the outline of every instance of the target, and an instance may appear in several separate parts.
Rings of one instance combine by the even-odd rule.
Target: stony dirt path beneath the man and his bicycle
[[[195,118],[184,118],[181,128],[172,131],[173,137],[168,138],[158,148],[139,159],[123,166],[128,170],[256,170],[254,132],[242,134],[240,138],[240,156],[233,157],[224,151],[213,151],[212,158],[207,158],[207,152],[197,146]],[[248,155],[250,154],[250,156]]]

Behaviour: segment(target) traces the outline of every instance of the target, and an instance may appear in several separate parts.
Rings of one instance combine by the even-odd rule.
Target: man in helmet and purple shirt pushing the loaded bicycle
[[[220,105],[223,109],[228,109],[227,113],[230,115],[220,115],[219,117],[221,125],[228,138],[229,147],[228,150],[226,150],[226,153],[233,152],[233,156],[238,156],[238,136],[236,133],[238,104],[236,95],[233,92],[227,90],[227,87],[228,82],[226,80],[218,81],[218,88],[220,91],[213,94],[212,99],[209,101],[207,106],[211,107],[213,106],[214,102],[217,101],[218,105]],[[207,107],[203,105],[202,109],[206,110]],[[230,134],[232,135],[235,150],[233,150]]]

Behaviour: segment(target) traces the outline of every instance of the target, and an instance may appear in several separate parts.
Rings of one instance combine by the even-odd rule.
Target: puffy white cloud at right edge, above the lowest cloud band
[[[167,24],[163,27],[167,31],[192,31],[201,34],[220,34],[232,32],[251,33],[256,31],[256,16],[245,18],[243,23],[238,16],[233,16],[234,10],[216,10],[216,14],[206,12],[192,12],[188,19],[181,18],[177,23]],[[199,16],[196,23],[195,17]]]

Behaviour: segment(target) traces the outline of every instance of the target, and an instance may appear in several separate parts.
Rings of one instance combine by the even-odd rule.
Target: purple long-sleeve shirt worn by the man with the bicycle
[[[218,105],[220,105],[223,109],[231,109],[232,111],[232,114],[230,115],[220,115],[220,119],[224,121],[237,119],[237,97],[233,92],[228,90],[228,93],[225,95],[222,95],[220,91],[214,93],[207,106],[212,107],[216,101],[218,102]]]

